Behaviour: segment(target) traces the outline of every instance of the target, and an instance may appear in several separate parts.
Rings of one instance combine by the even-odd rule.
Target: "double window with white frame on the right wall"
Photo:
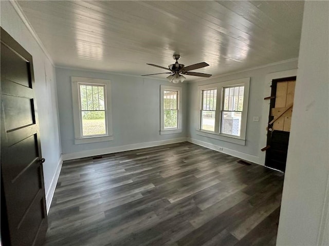
[[[250,78],[200,86],[199,135],[245,144]]]

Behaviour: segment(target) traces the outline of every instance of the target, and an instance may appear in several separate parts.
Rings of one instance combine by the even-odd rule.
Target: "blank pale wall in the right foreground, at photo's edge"
[[[305,2],[277,245],[329,241],[328,16],[329,2]]]

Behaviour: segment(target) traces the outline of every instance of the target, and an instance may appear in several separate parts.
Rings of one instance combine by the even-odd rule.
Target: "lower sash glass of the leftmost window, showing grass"
[[[81,113],[83,136],[106,134],[105,111],[83,111]]]

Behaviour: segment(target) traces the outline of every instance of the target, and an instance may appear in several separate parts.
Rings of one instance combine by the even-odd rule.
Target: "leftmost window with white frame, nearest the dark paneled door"
[[[111,81],[71,77],[75,144],[113,140]]]

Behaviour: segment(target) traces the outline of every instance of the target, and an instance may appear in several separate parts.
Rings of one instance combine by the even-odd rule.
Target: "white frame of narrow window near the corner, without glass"
[[[163,92],[164,91],[177,91],[177,110],[178,110],[178,124],[177,127],[165,128],[165,114],[163,111]],[[160,135],[174,134],[182,132],[182,88],[179,86],[166,86],[160,85]]]

